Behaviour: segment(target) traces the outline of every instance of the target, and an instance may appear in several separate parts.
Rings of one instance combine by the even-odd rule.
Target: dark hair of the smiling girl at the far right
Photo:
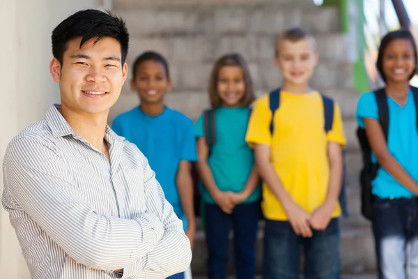
[[[380,77],[382,77],[382,80],[386,82],[385,72],[383,72],[383,56],[385,54],[385,50],[387,45],[389,43],[392,43],[394,40],[409,40],[409,42],[412,45],[412,49],[414,50],[414,59],[415,59],[415,65],[417,65],[418,58],[417,58],[417,45],[415,45],[414,36],[412,36],[412,33],[407,29],[398,29],[396,31],[392,31],[387,33],[382,40],[380,41],[380,47],[379,47],[379,54],[378,54],[378,61],[376,62],[376,67],[378,68]],[[412,71],[410,75],[410,80],[415,75],[415,71],[417,70],[416,66],[415,69]]]

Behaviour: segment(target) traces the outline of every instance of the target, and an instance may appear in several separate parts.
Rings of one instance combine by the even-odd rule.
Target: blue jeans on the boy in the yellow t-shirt
[[[263,270],[265,279],[299,279],[300,248],[304,278],[339,278],[339,219],[311,238],[298,236],[287,221],[265,221]]]

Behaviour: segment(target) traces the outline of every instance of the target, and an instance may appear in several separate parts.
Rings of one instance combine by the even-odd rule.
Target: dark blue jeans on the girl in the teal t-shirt
[[[233,228],[236,278],[253,279],[256,273],[256,237],[261,216],[260,202],[238,204],[226,214],[217,204],[205,203],[208,246],[208,278],[226,278],[229,231]]]

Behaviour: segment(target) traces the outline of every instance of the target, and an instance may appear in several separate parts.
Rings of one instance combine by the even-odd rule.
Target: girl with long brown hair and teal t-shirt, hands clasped
[[[203,114],[195,125],[198,169],[204,186],[208,278],[226,276],[231,225],[237,278],[254,278],[261,189],[253,151],[245,142],[254,91],[240,54],[227,54],[215,63],[209,97],[215,126],[208,127]],[[208,129],[215,133],[216,141],[211,145],[205,139]]]

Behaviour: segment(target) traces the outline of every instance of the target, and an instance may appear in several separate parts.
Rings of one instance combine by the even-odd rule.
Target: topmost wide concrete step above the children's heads
[[[313,33],[339,32],[335,8],[257,6],[164,6],[115,8],[126,20],[132,38],[137,36],[196,36],[219,34],[268,34],[277,36],[288,27],[300,26]],[[317,20],[320,18],[321,20]]]

